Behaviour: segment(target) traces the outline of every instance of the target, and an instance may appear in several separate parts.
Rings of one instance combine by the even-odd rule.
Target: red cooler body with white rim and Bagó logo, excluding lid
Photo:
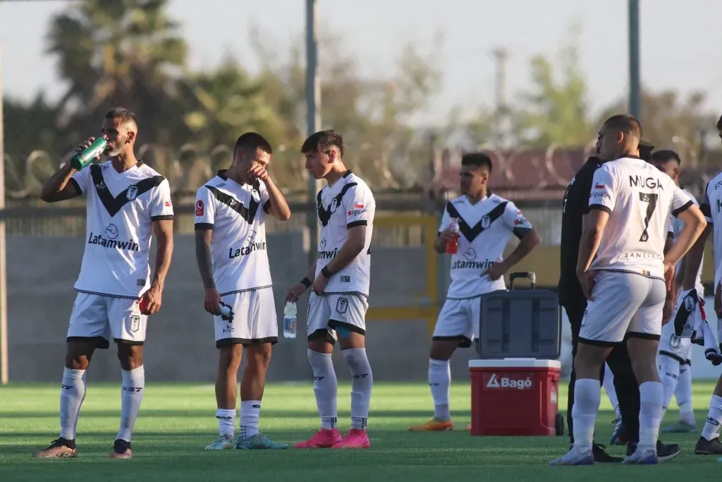
[[[470,360],[471,435],[559,434],[561,370],[558,360]]]

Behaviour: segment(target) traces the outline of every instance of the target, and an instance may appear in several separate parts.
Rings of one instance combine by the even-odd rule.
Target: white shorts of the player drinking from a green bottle
[[[78,293],[68,324],[67,341],[97,341],[97,348],[116,343],[142,345],[148,317],[140,312],[139,301],[131,298]]]

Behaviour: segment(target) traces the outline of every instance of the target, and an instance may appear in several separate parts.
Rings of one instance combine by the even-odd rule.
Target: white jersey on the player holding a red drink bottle
[[[471,204],[466,196],[446,203],[439,232],[458,218],[459,231],[456,254],[451,255],[451,285],[447,298],[472,298],[495,290],[504,290],[504,277],[491,280],[489,267],[503,261],[506,244],[512,233],[523,238],[531,231],[529,223],[513,202],[496,194]]]

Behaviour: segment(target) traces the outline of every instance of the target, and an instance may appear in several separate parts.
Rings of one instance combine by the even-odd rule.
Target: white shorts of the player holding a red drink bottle
[[[447,299],[436,319],[432,340],[458,340],[461,348],[469,348],[479,337],[482,298]]]

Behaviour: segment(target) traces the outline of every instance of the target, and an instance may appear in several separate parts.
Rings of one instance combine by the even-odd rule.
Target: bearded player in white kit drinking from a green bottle
[[[85,397],[85,371],[96,348],[118,345],[121,363],[121,426],[110,457],[133,456],[131,436],[143,399],[143,343],[147,317],[162,303],[173,254],[173,205],[168,181],[134,154],[138,124],[126,108],[105,115],[103,153],[110,160],[75,171],[64,165],[45,183],[41,197],[58,202],[87,197],[87,241],[77,298],[70,315],[60,394],[60,436],[35,457],[75,457],[75,432]],[[87,139],[80,149],[95,140]],[[99,157],[100,158],[100,157]],[[157,256],[150,276],[155,233]]]

